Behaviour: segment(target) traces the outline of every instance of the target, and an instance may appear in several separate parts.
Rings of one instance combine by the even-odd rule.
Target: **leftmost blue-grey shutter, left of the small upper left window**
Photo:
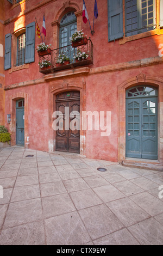
[[[11,68],[11,34],[5,35],[4,69]]]

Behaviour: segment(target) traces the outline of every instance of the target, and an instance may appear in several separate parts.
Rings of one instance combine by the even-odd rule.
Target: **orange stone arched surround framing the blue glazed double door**
[[[143,84],[158,88],[158,160],[163,163],[163,80],[161,77],[139,74],[118,87],[119,135],[118,162],[126,158],[126,90]]]

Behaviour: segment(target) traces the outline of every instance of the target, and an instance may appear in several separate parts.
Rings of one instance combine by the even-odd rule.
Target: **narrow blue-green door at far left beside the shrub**
[[[24,100],[16,101],[16,145],[24,145]]]

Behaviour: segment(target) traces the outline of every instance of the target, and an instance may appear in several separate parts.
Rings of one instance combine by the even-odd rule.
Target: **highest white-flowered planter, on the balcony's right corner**
[[[72,47],[77,47],[80,45],[86,45],[87,44],[87,38],[86,35],[84,35],[83,30],[75,31],[70,36],[70,42],[72,44]]]

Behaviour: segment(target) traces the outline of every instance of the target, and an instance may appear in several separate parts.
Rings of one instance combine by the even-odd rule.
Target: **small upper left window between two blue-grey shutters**
[[[16,66],[25,63],[25,47],[26,47],[26,33],[17,37],[17,61]]]

